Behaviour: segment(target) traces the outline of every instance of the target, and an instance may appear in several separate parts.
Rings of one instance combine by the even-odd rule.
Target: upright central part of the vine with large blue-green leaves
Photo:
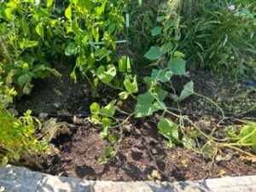
[[[144,78],[148,84],[148,91],[137,96],[135,116],[137,118],[152,115],[158,110],[166,112],[164,100],[169,95],[168,91],[162,89],[162,84],[171,82],[173,75],[182,76],[186,73],[186,61],[183,60],[183,53],[177,51],[177,43],[180,35],[179,16],[170,7],[170,4],[163,3],[160,14],[156,18],[156,26],[151,30],[156,43],[144,55],[148,60],[154,61],[152,66],[159,65],[160,69],[153,69],[151,77]],[[167,61],[167,62],[166,62]],[[175,101],[182,101],[194,93],[193,82],[185,85],[181,96],[172,96]],[[172,86],[171,86],[172,87]],[[174,90],[174,88],[172,87]]]

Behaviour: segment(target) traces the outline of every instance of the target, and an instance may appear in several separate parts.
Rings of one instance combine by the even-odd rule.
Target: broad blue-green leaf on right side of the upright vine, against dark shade
[[[184,75],[186,73],[186,61],[180,57],[169,61],[168,67],[175,75]]]

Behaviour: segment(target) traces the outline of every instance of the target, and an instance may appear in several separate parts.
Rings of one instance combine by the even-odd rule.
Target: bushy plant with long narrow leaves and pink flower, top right
[[[190,67],[200,64],[215,72],[250,73],[255,67],[253,4],[206,1],[197,15],[184,17],[182,23],[186,27],[179,49],[188,55]]]

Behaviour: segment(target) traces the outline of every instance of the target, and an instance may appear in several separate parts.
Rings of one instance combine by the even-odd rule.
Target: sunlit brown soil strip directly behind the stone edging
[[[256,174],[255,164],[241,161],[239,154],[212,164],[187,149],[167,149],[150,120],[137,120],[136,128],[126,132],[116,146],[115,158],[105,166],[99,165],[96,161],[108,144],[99,137],[99,131],[83,123],[73,130],[72,137],[59,137],[55,143],[61,153],[44,164],[44,172],[88,180],[144,181],[154,180],[151,174],[155,170],[160,180],[170,182]]]

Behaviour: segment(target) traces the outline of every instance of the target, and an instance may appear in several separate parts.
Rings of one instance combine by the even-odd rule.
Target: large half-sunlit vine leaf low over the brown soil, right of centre
[[[172,122],[169,119],[160,119],[160,122],[157,125],[160,134],[166,137],[172,143],[179,143],[178,138],[178,125]]]

